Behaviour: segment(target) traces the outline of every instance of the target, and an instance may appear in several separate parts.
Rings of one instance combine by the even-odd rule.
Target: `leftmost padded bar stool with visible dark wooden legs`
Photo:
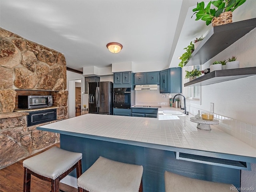
[[[59,192],[59,182],[72,170],[76,169],[76,177],[82,174],[82,153],[70,152],[52,147],[45,152],[23,161],[23,192],[30,192],[31,175],[52,184],[51,192]]]

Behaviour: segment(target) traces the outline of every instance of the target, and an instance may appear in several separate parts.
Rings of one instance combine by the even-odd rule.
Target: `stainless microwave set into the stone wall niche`
[[[18,108],[35,109],[52,106],[51,95],[18,95]]]

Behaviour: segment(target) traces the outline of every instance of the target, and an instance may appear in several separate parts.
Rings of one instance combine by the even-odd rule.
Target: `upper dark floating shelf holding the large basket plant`
[[[215,26],[191,54],[186,66],[202,65],[256,27],[256,18]]]

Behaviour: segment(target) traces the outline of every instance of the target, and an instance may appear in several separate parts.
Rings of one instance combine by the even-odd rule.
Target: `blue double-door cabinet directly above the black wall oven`
[[[129,88],[134,84],[134,73],[116,72],[114,73],[114,88]]]

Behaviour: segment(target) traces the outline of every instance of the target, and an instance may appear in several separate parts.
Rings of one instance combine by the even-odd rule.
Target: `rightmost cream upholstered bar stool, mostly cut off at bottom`
[[[165,192],[230,192],[235,188],[232,184],[189,178],[168,171],[164,172],[164,182]]]

